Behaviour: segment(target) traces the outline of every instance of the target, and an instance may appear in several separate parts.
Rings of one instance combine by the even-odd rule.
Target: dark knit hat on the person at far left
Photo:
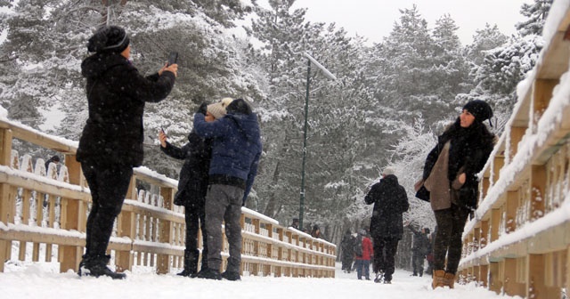
[[[99,28],[89,38],[87,51],[96,53],[121,53],[128,46],[129,39],[125,29],[118,26]]]

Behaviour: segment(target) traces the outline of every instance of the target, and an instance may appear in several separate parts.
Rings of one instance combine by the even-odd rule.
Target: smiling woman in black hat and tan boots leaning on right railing
[[[483,124],[492,116],[493,110],[485,101],[469,101],[426,159],[422,180],[430,191],[438,228],[433,288],[453,287],[461,258],[461,235],[468,215],[477,206],[476,174],[493,151],[494,135]]]

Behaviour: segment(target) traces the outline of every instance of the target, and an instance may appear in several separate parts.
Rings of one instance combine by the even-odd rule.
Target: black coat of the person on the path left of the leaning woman
[[[364,201],[374,204],[371,219],[372,238],[398,238],[403,235],[403,212],[410,207],[408,196],[394,174],[372,185]]]

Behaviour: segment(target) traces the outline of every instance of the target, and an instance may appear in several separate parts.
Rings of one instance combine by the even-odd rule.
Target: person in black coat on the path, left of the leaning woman
[[[371,219],[371,236],[374,244],[372,269],[376,273],[374,282],[392,282],[395,271],[395,252],[403,235],[402,214],[408,210],[408,196],[392,168],[382,173],[380,182],[372,185],[364,201],[374,204]]]

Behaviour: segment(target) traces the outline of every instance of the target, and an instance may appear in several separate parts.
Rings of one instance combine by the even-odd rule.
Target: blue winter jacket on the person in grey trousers
[[[194,115],[194,130],[204,138],[213,139],[209,183],[242,188],[245,205],[262,151],[257,116],[232,111],[228,106],[227,114],[216,121],[208,123],[204,117],[202,113]]]

